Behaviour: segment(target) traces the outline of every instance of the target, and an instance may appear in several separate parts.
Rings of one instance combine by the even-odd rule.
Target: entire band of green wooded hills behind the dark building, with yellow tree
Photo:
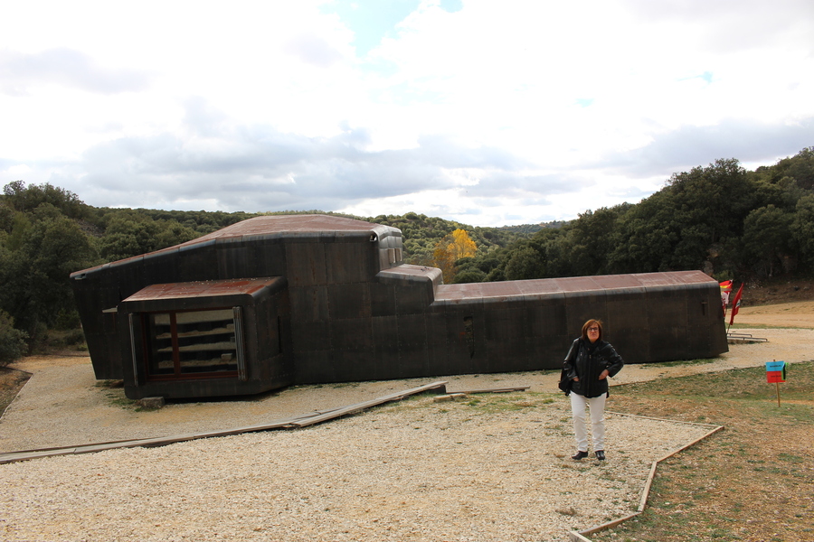
[[[49,330],[78,328],[71,272],[252,216],[96,208],[51,184],[6,184],[0,195],[0,362],[24,337],[31,346]],[[752,172],[734,159],[698,166],[674,174],[637,204],[586,210],[564,223],[479,228],[414,212],[350,218],[401,229],[407,261],[441,266],[443,260],[448,282],[683,269],[720,280],[810,277],[814,147]],[[455,247],[466,249],[450,251]],[[450,254],[466,257],[450,260]]]

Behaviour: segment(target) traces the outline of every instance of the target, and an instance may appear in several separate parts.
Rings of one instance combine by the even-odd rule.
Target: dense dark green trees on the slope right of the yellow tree
[[[689,269],[719,280],[810,276],[814,147],[752,172],[721,159],[675,173],[639,203],[586,210],[458,264],[458,282]]]

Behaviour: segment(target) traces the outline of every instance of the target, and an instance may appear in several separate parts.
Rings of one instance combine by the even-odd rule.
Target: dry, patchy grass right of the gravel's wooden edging
[[[791,365],[786,376],[780,407],[762,367],[615,387],[615,410],[725,428],[661,463],[644,512],[591,539],[807,539],[800,533],[810,528],[814,483],[814,361]]]

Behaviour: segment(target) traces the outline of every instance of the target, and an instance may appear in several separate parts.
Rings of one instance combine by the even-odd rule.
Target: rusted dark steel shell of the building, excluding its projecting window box
[[[628,362],[727,350],[719,287],[701,272],[443,285],[439,269],[402,264],[398,229],[298,215],[246,220],[73,274],[97,378],[125,378],[132,360],[115,310],[142,288],[274,276],[285,299],[272,312],[285,323],[260,313],[251,323],[254,355],[265,360],[253,374],[270,386],[279,371],[262,368],[273,364],[263,353],[272,336],[292,383],[557,369],[589,318],[605,322],[605,339]],[[179,386],[202,397],[233,391]]]

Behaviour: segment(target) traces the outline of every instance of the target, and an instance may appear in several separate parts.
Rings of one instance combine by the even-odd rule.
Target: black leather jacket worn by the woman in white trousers
[[[579,377],[579,382],[572,382],[571,391],[584,397],[600,397],[608,393],[608,379],[600,380],[601,372],[608,369],[608,376],[618,373],[625,362],[613,350],[610,342],[587,339],[576,339],[568,350],[563,369],[568,378]]]

